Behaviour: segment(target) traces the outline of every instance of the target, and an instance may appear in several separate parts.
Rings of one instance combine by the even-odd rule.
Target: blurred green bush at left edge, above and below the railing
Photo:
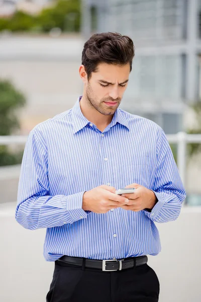
[[[25,103],[25,96],[9,81],[0,81],[0,135],[10,135],[20,127],[15,110]],[[21,161],[22,152],[11,154],[8,146],[0,145],[0,166],[15,165]]]

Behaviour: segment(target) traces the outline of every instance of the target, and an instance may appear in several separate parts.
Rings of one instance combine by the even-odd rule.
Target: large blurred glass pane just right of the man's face
[[[182,97],[182,56],[135,57],[127,95],[177,100]]]

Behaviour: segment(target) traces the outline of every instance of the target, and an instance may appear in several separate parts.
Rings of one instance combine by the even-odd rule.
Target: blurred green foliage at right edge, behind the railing
[[[195,112],[197,127],[188,129],[187,133],[200,134],[201,133],[201,102],[200,101],[196,102],[194,105],[191,106],[191,108]],[[188,143],[187,153],[189,156],[201,153],[201,143]]]

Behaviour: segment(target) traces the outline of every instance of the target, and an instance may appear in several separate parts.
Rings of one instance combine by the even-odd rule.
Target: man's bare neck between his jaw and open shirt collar
[[[81,112],[85,118],[96,125],[100,131],[103,131],[111,123],[114,114],[104,115],[100,113],[91,104],[88,104],[85,96],[82,96],[79,104]]]

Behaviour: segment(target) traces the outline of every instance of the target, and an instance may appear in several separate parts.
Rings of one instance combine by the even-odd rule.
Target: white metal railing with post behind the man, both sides
[[[11,144],[25,144],[28,136],[9,135],[0,136],[0,145]],[[201,134],[187,134],[185,132],[178,132],[177,134],[168,134],[167,139],[169,143],[177,144],[177,167],[181,180],[185,186],[185,172],[186,172],[186,145],[187,143],[201,143]]]

